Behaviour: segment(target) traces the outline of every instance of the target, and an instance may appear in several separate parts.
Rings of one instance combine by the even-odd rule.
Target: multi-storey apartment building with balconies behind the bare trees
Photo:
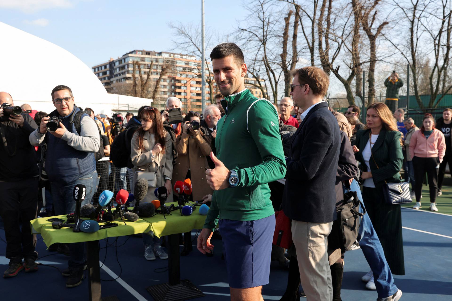
[[[140,65],[141,77],[138,65]],[[207,68],[210,67],[211,65],[208,64]],[[133,71],[134,68],[135,72]],[[110,58],[107,62],[92,67],[94,74],[96,74],[109,93],[146,98],[152,98],[155,84],[160,77],[162,68],[166,68],[166,72],[158,83],[153,102],[155,107],[163,109],[166,98],[175,96],[182,101],[184,111],[200,111],[202,99],[201,60],[197,60],[196,56],[164,51],[134,50],[127,52],[117,59]],[[134,73],[138,93],[141,87],[140,83],[146,82],[147,74],[150,76],[145,91],[141,96],[135,95],[135,89],[133,87]],[[211,73],[210,75],[213,79],[213,74]],[[210,103],[208,78],[209,72],[206,71],[205,93],[207,105]],[[255,96],[260,97],[262,96],[262,92],[259,88],[249,84],[250,82],[255,83],[255,81],[255,79],[245,79],[247,88]],[[218,89],[215,82],[212,83],[212,87],[213,95],[217,94]]]

